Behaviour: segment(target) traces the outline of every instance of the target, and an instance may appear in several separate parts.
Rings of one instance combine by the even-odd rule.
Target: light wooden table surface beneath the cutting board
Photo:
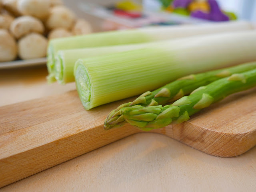
[[[0,70],[0,106],[63,93],[48,85],[45,66]],[[256,147],[218,158],[164,135],[140,133],[0,188],[0,192],[255,192]]]

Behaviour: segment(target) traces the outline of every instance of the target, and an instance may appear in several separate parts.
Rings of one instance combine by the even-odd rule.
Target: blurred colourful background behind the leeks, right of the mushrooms
[[[65,4],[90,20],[94,31],[228,20],[256,22],[255,0],[76,0]],[[215,19],[208,17],[211,12]],[[228,16],[222,16],[224,14]],[[99,20],[97,20],[97,18]]]

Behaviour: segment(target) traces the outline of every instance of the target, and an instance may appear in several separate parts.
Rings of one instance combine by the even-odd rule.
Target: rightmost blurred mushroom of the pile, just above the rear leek
[[[72,28],[74,35],[86,35],[92,33],[92,27],[86,20],[78,19]]]

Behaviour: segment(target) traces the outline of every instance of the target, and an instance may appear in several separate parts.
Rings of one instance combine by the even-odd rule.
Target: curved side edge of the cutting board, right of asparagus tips
[[[199,127],[190,121],[150,132],[166,135],[201,152],[218,157],[239,156],[256,146],[256,130],[225,133]]]

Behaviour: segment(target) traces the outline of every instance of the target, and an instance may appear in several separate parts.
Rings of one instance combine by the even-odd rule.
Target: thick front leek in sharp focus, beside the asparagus
[[[85,109],[151,91],[179,77],[256,61],[254,31],[169,40],[78,59],[74,74]]]

